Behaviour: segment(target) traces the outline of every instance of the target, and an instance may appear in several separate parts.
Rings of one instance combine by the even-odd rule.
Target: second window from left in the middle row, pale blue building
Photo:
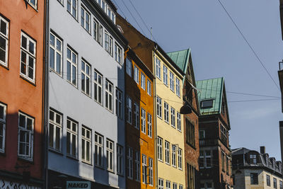
[[[77,54],[67,47],[67,81],[76,86]]]

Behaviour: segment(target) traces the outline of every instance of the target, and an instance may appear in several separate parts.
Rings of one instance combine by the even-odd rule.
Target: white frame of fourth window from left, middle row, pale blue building
[[[96,70],[94,71],[93,83],[94,83],[94,95],[93,95],[94,101],[96,101],[100,105],[103,105],[103,76]],[[99,99],[99,95],[101,99]]]

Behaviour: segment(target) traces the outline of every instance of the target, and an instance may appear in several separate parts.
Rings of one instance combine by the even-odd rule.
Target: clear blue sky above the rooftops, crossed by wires
[[[114,0],[127,20],[137,19],[150,38],[129,0]],[[166,52],[192,50],[195,78],[224,76],[226,91],[280,97],[280,92],[250,51],[217,0],[131,0],[154,38]],[[283,59],[279,21],[279,0],[221,0],[238,27],[270,71],[277,85],[278,62]],[[140,30],[140,29],[139,29]],[[228,101],[266,99],[227,93]],[[283,120],[281,102],[255,101],[229,103],[231,148],[246,147],[259,151],[265,146],[270,156],[281,160],[279,120]]]

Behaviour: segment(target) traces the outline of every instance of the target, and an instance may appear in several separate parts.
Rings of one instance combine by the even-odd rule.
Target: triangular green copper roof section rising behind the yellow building
[[[189,62],[190,49],[168,52],[167,55],[182,69],[184,73],[187,71],[187,63]]]

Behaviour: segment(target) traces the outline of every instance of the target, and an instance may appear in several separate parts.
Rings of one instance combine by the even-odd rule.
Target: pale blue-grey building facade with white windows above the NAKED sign
[[[109,0],[49,1],[48,188],[126,188],[127,40],[116,13]]]

